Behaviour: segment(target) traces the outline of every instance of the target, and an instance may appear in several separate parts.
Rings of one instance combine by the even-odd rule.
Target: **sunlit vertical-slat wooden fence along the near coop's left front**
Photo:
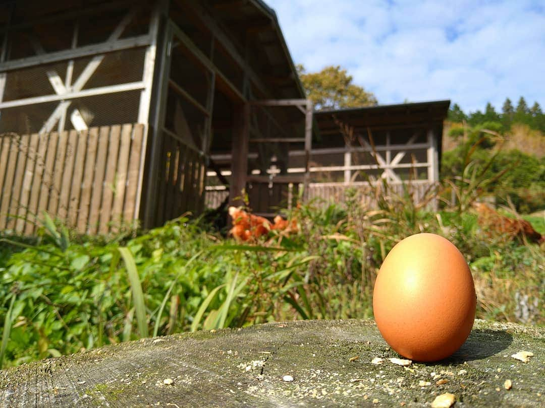
[[[43,212],[81,233],[137,217],[144,125],[0,135],[0,230],[32,234]]]

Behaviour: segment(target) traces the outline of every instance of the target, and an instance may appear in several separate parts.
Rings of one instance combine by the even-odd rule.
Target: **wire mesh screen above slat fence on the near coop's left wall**
[[[123,50],[104,55],[100,65],[87,81],[80,81],[84,70],[93,57],[79,58],[74,61],[71,84],[84,83],[81,90],[100,88],[102,86],[119,85],[141,81],[143,75],[145,48]],[[46,95],[58,95],[59,89],[53,88],[55,80],[65,87],[68,61],[33,66],[27,69],[9,71],[6,76],[4,102],[21,100]],[[80,90],[80,89],[77,89]],[[62,90],[60,90],[62,92]],[[68,91],[68,90],[65,90]],[[75,90],[74,90],[75,91]],[[60,94],[62,95],[62,93]],[[33,133],[40,132],[46,121],[63,101],[28,104],[19,107],[3,108],[0,117],[0,133]],[[110,94],[70,99],[66,103],[66,119],[64,129],[76,128],[76,114],[84,125],[104,126],[116,123],[132,123],[138,119],[140,90],[113,92]],[[81,120],[78,119],[81,129]],[[57,129],[54,125],[52,129]]]

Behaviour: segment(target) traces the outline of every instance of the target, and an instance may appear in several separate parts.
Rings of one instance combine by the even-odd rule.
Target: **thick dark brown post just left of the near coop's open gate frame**
[[[233,121],[233,145],[231,162],[231,184],[229,184],[229,202],[232,206],[244,204],[240,199],[246,187],[248,172],[248,145],[250,140],[250,104],[235,107]]]

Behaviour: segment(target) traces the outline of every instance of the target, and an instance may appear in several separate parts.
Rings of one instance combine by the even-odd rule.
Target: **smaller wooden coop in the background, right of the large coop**
[[[308,197],[344,201],[348,187],[368,200],[387,181],[419,202],[439,181],[443,121],[450,101],[322,110],[311,154]],[[364,200],[365,201],[365,200]]]

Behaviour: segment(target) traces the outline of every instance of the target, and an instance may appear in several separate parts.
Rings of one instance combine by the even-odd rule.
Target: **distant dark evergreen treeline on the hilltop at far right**
[[[501,123],[503,130],[511,128],[512,123],[524,123],[532,129],[539,130],[545,133],[545,115],[541,110],[539,103],[528,107],[528,103],[524,97],[520,97],[517,107],[509,98],[506,98],[501,107],[501,112],[498,112],[492,103],[486,104],[485,112],[477,110],[476,112],[465,113],[457,103],[453,104],[449,109],[448,119],[451,122],[467,122],[469,126],[477,126],[486,122]]]

